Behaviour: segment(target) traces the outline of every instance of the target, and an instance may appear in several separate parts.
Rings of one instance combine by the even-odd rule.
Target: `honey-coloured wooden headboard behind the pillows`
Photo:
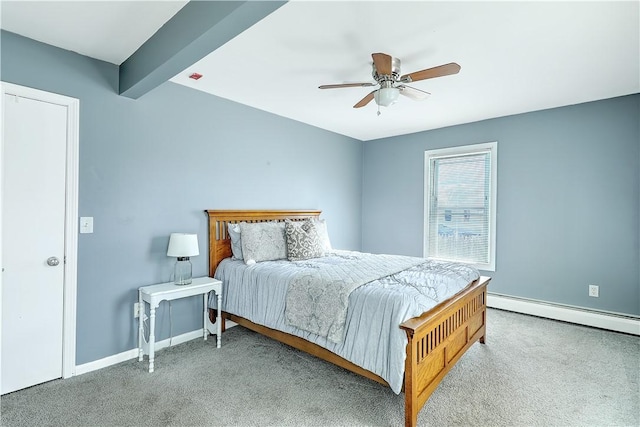
[[[231,239],[227,224],[236,222],[302,221],[317,218],[319,210],[206,210],[209,215],[209,276],[213,277],[220,261],[231,256]]]

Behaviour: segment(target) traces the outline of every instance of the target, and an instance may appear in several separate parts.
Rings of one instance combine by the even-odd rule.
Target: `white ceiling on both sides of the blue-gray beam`
[[[184,4],[7,3],[2,28],[116,64],[136,49],[116,42],[140,45]],[[638,93],[639,5],[293,1],[171,81],[366,141]],[[53,10],[65,25],[47,29],[34,18]],[[373,52],[401,59],[403,74],[448,62],[462,69],[412,83],[431,97],[400,97],[380,116],[375,102],[352,108],[372,88],[318,89],[373,82]]]

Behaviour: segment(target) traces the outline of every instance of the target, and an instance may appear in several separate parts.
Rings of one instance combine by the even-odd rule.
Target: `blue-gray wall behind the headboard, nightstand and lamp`
[[[170,278],[171,232],[204,209],[322,209],[335,247],[360,249],[362,143],[173,83],[116,94],[115,65],[2,32],[3,81],[80,99],[77,364],[137,346],[137,288]],[[166,303],[164,303],[166,304]],[[201,327],[201,300],[172,303],[173,335]],[[161,306],[157,338],[169,336]]]

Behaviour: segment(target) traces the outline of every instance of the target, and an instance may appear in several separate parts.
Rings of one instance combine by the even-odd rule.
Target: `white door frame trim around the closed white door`
[[[4,129],[5,95],[17,95],[37,101],[49,102],[67,107],[67,156],[66,156],[66,197],[64,226],[64,284],[63,284],[63,325],[62,325],[62,378],[75,375],[76,371],[76,300],[78,286],[78,181],[79,181],[79,112],[80,101],[56,93],[0,82],[2,86],[2,106],[0,120]],[[4,164],[4,133],[0,135],[0,165]],[[0,173],[0,188],[3,186]],[[0,236],[2,236],[2,197],[0,197]],[[0,244],[0,264],[2,263]],[[2,274],[0,274],[0,289]],[[2,315],[2,293],[0,292],[0,316]],[[43,313],[43,316],[45,313]],[[1,318],[1,317],[0,317]],[[42,322],[46,333],[46,322]],[[2,345],[0,343],[0,345]],[[0,348],[0,354],[2,354]],[[1,379],[0,379],[1,381]]]

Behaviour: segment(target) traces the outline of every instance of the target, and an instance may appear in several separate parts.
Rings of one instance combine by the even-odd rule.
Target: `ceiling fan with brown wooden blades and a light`
[[[362,98],[353,108],[360,108],[367,105],[371,100],[375,99],[378,106],[388,107],[396,102],[400,94],[411,98],[415,101],[426,99],[429,92],[407,86],[405,83],[417,82],[419,80],[432,79],[435,77],[443,77],[451,74],[457,74],[460,66],[455,62],[439,65],[425,70],[415,71],[413,73],[400,75],[400,60],[393,58],[386,53],[372,53],[373,71],[371,75],[377,83],[343,83],[333,85],[318,86],[319,89],[339,89],[345,87],[380,87],[371,91],[367,96]],[[380,111],[378,111],[380,114]]]

